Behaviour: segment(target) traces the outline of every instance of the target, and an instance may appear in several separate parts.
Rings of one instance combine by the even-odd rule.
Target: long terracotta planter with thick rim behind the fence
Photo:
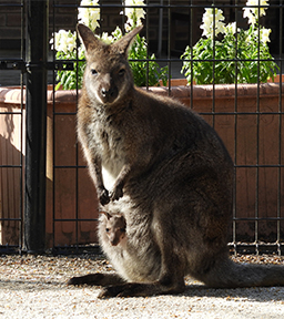
[[[280,213],[283,216],[284,204],[283,200],[278,200],[278,196],[283,194],[278,194],[278,189],[284,189],[282,185],[284,173],[277,167],[282,164],[280,158],[284,158],[284,150],[282,147],[280,154],[278,147],[281,141],[284,141],[284,130],[281,130],[284,123],[277,114],[280,107],[284,106],[284,84],[282,86],[282,105],[280,105],[278,83],[261,84],[258,89],[256,84],[239,84],[235,94],[234,84],[215,85],[214,90],[212,85],[194,85],[192,92],[191,86],[173,86],[172,82],[171,95],[201,113],[215,127],[236,163],[234,213],[236,218],[254,218],[255,212],[260,218],[273,218]],[[150,91],[169,95],[168,88],[155,86],[150,88]],[[20,89],[0,88],[0,112],[19,111],[20,95]],[[95,189],[87,168],[83,167],[85,163],[80,147],[77,156],[77,101],[74,91],[57,91],[54,94],[53,91],[48,92],[47,243],[49,247],[53,245],[53,205],[55,220],[98,217]],[[0,154],[2,154],[0,165],[11,163],[19,165],[21,140],[17,137],[20,136],[20,115],[0,115]],[[24,155],[24,150],[22,153]],[[258,167],[255,167],[256,164]],[[20,189],[19,182],[17,182],[19,181],[18,173],[10,171],[8,168],[0,171],[0,194],[2,194],[0,216],[11,218],[19,216]],[[10,181],[14,182],[10,183]],[[280,181],[281,188],[278,188]],[[12,191],[10,188],[9,192],[7,191],[8,184]],[[75,198],[77,188],[78,199]],[[4,192],[9,193],[8,197]],[[281,207],[278,207],[280,203]],[[10,241],[11,238],[16,240],[18,226],[12,223],[14,222],[2,222],[2,243]],[[284,225],[281,226],[284,231]],[[236,227],[239,240],[253,238],[254,222],[239,222]],[[77,243],[77,239],[82,244],[94,243],[97,241],[95,229],[95,222],[79,222],[78,226],[74,222],[55,222],[54,245],[72,245]],[[275,237],[276,222],[258,222],[258,234],[266,238]]]

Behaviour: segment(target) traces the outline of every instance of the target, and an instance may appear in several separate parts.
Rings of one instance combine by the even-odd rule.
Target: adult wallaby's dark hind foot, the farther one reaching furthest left
[[[68,285],[92,285],[92,286],[110,286],[125,282],[116,274],[90,274],[80,277],[72,277],[68,280]]]

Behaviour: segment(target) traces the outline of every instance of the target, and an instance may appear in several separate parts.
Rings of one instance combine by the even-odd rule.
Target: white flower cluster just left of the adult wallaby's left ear
[[[75,49],[75,32],[59,30],[59,32],[54,33],[54,41],[53,39],[50,40],[50,43],[52,43],[51,49],[63,53],[72,52]]]

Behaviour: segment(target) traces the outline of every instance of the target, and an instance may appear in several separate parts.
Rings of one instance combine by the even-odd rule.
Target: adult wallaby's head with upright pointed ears
[[[97,104],[113,104],[125,97],[133,88],[128,50],[142,28],[138,27],[116,42],[105,44],[88,27],[78,24],[87,58],[83,85],[91,101]]]

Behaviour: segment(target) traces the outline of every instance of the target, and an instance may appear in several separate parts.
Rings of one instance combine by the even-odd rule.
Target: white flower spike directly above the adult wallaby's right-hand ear
[[[143,19],[145,17],[145,11],[142,9],[144,4],[143,0],[125,0],[124,3],[126,7],[128,6],[135,6],[140,8],[125,8],[125,16],[128,17],[128,21],[125,23],[125,30],[130,31],[134,27],[141,25]],[[121,12],[123,14],[123,12]]]

